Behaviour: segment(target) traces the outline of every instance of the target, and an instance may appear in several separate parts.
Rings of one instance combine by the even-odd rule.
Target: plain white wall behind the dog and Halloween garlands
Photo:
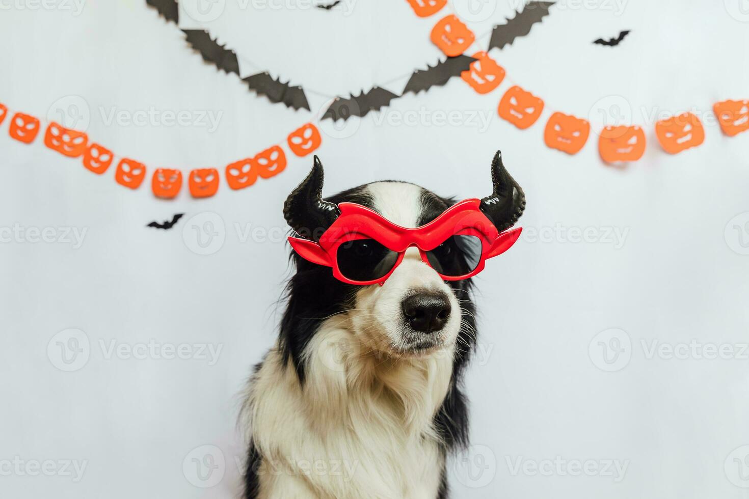
[[[0,102],[42,117],[73,103],[93,140],[151,169],[223,174],[228,162],[282,143],[325,100],[310,94],[310,113],[256,97],[203,64],[142,0],[89,0],[79,15],[67,3],[0,5]],[[428,42],[440,15],[418,19],[402,0],[330,11],[225,5],[207,24],[214,35],[258,67],[330,95],[402,86],[398,77],[440,55]],[[703,146],[669,156],[652,126],[659,113],[682,110],[707,121],[713,102],[749,97],[749,14],[740,6],[564,0],[529,37],[492,52],[508,73],[499,90],[479,96],[453,79],[343,132],[326,127],[318,153],[327,193],[395,178],[458,198],[487,195],[498,148],[527,193],[526,235],[476,280],[481,349],[467,379],[476,447],[451,465],[453,497],[749,498],[749,447],[741,448],[749,444],[749,133],[727,138],[706,123]],[[512,7],[500,1],[471,26],[484,34]],[[592,44],[624,29],[632,33],[619,47]],[[547,102],[526,131],[496,115],[509,79]],[[597,130],[598,109],[614,113],[613,105],[646,127],[640,162],[603,165],[594,134],[572,157],[543,144],[552,110],[591,116]],[[110,123],[112,109],[220,118],[212,131],[155,119],[136,126]],[[449,111],[458,126],[434,124]],[[398,123],[416,114],[416,126]],[[488,124],[471,123],[476,114]],[[0,495],[234,497],[239,394],[273,342],[288,277],[282,201],[311,159],[290,156],[287,171],[244,191],[222,180],[213,198],[193,200],[185,186],[169,202],[151,195],[150,174],[138,191],[124,189],[114,167],[91,174],[41,136],[13,141],[7,122],[0,227],[86,232],[79,248],[23,237],[0,244]],[[145,227],[175,212],[187,213],[175,230]],[[219,251],[191,251],[195,215],[223,222]],[[243,239],[248,227],[276,237]],[[589,227],[586,242],[562,235]],[[610,239],[613,231],[623,240]],[[83,332],[58,334],[68,328]],[[70,337],[81,353],[64,364]],[[150,340],[220,353],[212,365],[109,355],[112,345]],[[623,351],[607,364],[601,343],[612,340]],[[651,355],[653,345],[692,340],[701,347],[686,358]],[[724,344],[733,358],[704,358]],[[192,459],[206,454],[219,468],[201,482]],[[555,459],[566,464],[544,468],[551,476],[533,472]],[[29,476],[48,460],[53,476]],[[82,477],[61,469],[66,460],[85,463]],[[598,471],[575,476],[574,461]],[[627,467],[623,477],[603,469],[609,461]]]

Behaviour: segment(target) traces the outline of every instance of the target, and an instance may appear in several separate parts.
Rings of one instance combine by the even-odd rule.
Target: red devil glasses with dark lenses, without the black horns
[[[403,261],[406,250],[419,249],[421,259],[446,281],[473,277],[487,258],[507,251],[521,228],[497,233],[479,209],[478,199],[463,200],[428,224],[409,229],[357,203],[340,203],[341,215],[320,242],[289,237],[305,260],[333,267],[333,276],[348,284],[383,284]]]

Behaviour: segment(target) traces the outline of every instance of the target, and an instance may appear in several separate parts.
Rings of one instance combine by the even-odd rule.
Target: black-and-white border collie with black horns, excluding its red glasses
[[[499,152],[491,176],[493,194],[473,206],[503,233],[525,197]],[[285,203],[286,220],[307,244],[336,221],[340,203],[408,228],[455,205],[404,182],[369,183],[327,200],[322,187],[315,157]],[[366,262],[372,248],[356,248]],[[447,498],[446,456],[468,441],[461,376],[476,346],[475,308],[470,279],[446,280],[425,255],[411,246],[383,282],[354,285],[292,253],[296,273],[279,338],[249,379],[240,419],[249,442],[245,498]]]

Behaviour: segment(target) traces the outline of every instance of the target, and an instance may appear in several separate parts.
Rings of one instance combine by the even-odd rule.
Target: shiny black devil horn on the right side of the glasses
[[[491,162],[491,183],[494,185],[494,192],[481,200],[480,207],[484,215],[494,223],[494,227],[502,232],[512,227],[523,214],[525,195],[502,164],[501,151],[497,151]]]

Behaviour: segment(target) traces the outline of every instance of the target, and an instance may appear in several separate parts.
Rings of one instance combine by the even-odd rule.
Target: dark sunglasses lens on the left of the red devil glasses
[[[338,268],[351,281],[375,281],[395,266],[398,253],[385,248],[375,239],[344,242],[336,253]]]

